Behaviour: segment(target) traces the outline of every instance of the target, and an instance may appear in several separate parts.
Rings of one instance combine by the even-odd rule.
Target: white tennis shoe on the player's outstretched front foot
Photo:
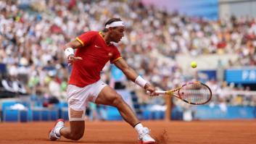
[[[155,140],[149,135],[150,130],[147,127],[143,127],[139,134],[139,143],[142,144],[154,144]]]

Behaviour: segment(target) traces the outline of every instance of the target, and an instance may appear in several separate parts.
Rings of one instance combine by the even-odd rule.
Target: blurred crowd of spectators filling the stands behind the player
[[[256,25],[249,17],[210,21],[140,1],[9,0],[0,1],[0,63],[7,65],[1,79],[22,82],[25,93],[64,99],[70,68],[62,48],[81,33],[103,30],[110,17],[125,22],[125,37],[117,43],[123,58],[161,89],[186,81],[176,54],[238,54],[226,67],[256,64]],[[102,72],[106,82],[109,65]],[[214,91],[223,86],[208,83]],[[132,82],[125,85],[135,88]],[[140,98],[141,103],[156,99],[145,93]]]

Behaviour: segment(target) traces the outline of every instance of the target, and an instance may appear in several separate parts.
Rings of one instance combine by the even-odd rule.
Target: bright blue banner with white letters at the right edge
[[[225,71],[225,80],[228,83],[256,83],[256,69],[227,69]]]

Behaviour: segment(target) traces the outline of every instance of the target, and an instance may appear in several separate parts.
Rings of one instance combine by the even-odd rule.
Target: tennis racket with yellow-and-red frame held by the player
[[[162,95],[175,96],[189,104],[202,105],[212,98],[212,90],[202,82],[187,82],[181,87],[173,90],[156,90],[155,93]]]

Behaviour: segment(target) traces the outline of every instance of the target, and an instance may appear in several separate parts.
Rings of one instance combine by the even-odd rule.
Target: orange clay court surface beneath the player
[[[147,121],[152,137],[159,144],[173,143],[256,143],[256,120],[165,122]],[[86,122],[86,132],[78,142],[48,140],[54,122],[1,123],[0,143],[4,144],[136,144],[135,130],[125,122]],[[68,125],[66,122],[65,126]]]

